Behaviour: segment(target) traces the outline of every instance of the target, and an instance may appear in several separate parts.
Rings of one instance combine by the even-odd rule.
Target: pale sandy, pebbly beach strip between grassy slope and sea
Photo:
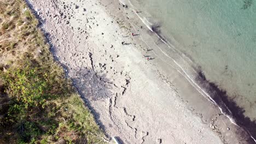
[[[252,142],[175,69],[135,11],[119,1],[27,2],[42,23],[56,61],[109,140]]]

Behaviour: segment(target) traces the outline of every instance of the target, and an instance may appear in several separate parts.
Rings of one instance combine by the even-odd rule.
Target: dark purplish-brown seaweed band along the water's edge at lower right
[[[222,88],[219,88],[216,83],[208,81],[202,70],[197,70],[196,82],[203,88],[215,103],[222,109],[224,115],[230,116],[234,122],[247,132],[238,134],[248,143],[255,143],[252,137],[256,137],[256,121],[251,121],[249,117],[244,115],[245,110],[238,106],[233,99]],[[251,135],[251,136],[249,136]]]

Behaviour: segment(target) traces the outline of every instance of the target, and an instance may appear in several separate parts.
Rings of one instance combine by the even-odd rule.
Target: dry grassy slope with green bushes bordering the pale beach
[[[0,1],[0,143],[103,143],[25,7]]]

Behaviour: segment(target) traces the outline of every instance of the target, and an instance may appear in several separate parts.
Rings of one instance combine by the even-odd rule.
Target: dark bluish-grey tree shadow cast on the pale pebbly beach
[[[77,71],[71,77],[73,85],[77,88],[86,106],[91,110],[96,123],[105,131],[105,127],[99,119],[100,115],[92,108],[90,101],[103,101],[112,97],[113,92],[110,89],[114,88],[113,83],[107,79],[106,74],[96,74],[92,69],[83,68],[73,71]]]

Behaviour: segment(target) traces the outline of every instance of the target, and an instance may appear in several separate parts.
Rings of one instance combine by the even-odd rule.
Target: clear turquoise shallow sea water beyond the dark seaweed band
[[[132,0],[175,49],[256,120],[256,3]]]

